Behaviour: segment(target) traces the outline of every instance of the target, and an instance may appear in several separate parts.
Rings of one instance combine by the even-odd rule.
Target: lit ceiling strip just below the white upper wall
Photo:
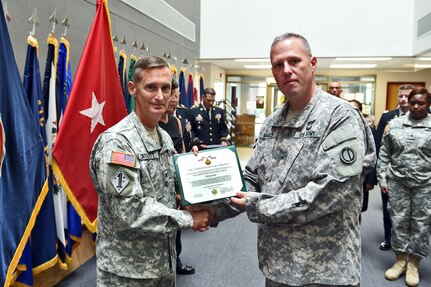
[[[374,60],[374,59],[377,59]],[[370,70],[383,72],[416,72],[422,69],[431,68],[431,57],[392,57],[387,60],[378,60],[379,58],[317,58],[317,70]],[[271,74],[269,59],[199,59],[200,64],[214,64],[224,70],[226,73],[235,74]],[[374,68],[331,68],[333,64],[347,65],[364,65],[373,64]],[[267,65],[267,67],[255,67],[253,69],[245,68],[245,65]]]

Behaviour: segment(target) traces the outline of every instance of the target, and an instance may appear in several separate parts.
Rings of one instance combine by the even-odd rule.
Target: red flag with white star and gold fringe
[[[97,193],[90,178],[90,153],[100,133],[127,115],[118,80],[106,0],[96,17],[53,150],[53,169],[87,228],[97,229]]]

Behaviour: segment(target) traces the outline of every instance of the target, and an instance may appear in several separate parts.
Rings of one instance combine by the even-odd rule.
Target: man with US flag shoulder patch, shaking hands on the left
[[[90,158],[99,195],[98,286],[175,286],[177,229],[205,230],[207,212],[176,209],[174,150],[157,126],[171,75],[165,61],[144,57],[133,68],[135,111],[101,134]]]

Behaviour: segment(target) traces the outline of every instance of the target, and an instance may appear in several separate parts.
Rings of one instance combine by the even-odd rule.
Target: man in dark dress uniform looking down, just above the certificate
[[[215,94],[213,88],[206,88],[202,103],[190,109],[192,145],[201,149],[208,145],[228,145],[225,114],[221,108],[214,106]]]

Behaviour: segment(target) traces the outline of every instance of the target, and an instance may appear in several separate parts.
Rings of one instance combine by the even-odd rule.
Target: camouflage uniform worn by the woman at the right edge
[[[383,136],[377,165],[380,186],[389,190],[392,249],[428,255],[431,225],[431,115],[393,119]]]

